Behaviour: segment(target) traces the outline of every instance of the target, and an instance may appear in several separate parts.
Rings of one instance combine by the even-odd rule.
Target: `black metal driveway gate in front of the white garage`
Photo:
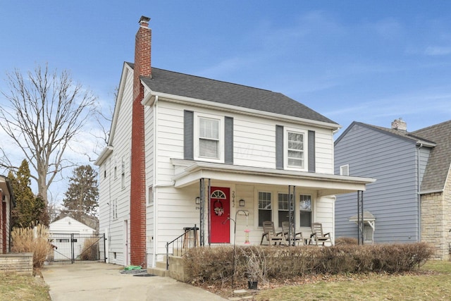
[[[47,264],[106,262],[105,234],[51,233]]]

